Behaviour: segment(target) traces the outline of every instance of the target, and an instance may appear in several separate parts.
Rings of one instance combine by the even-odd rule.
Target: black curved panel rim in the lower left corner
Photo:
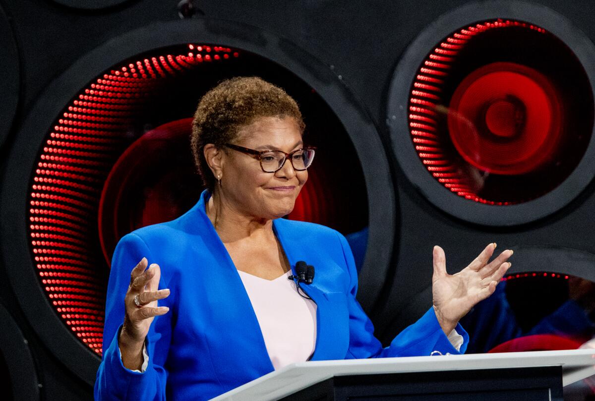
[[[17,322],[0,303],[0,350],[8,365],[12,395],[17,400],[39,400],[39,379],[29,342],[23,336]]]

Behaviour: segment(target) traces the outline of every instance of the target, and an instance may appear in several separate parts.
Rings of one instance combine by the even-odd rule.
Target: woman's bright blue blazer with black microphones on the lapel
[[[205,212],[206,190],[186,214],[124,236],[109,274],[103,359],[95,382],[96,400],[207,400],[273,371],[258,320],[227,249]],[[286,219],[273,230],[295,274],[303,260],[316,268],[303,285],[317,303],[317,337],[312,361],[459,353],[444,335],[432,308],[389,347],[355,298],[358,277],[349,245],[336,230]],[[171,289],[146,339],[145,372],[124,368],[118,333],[130,271],[145,256],[161,267],[159,288]],[[468,336],[461,352],[465,352]]]

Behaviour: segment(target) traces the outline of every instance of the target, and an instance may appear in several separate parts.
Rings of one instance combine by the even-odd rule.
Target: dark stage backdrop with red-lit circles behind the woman
[[[431,306],[434,245],[455,272],[497,242],[513,267],[466,318],[470,351],[580,346],[595,309],[594,12],[553,0],[0,0],[10,397],[92,398],[115,243],[193,205],[189,118],[232,76],[261,76],[302,108],[318,156],[289,218],[348,237],[385,344]]]

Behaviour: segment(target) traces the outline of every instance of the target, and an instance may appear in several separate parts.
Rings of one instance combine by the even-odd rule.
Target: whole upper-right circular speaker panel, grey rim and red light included
[[[403,172],[472,223],[528,223],[595,176],[595,46],[559,14],[516,1],[443,15],[409,46],[387,105]]]

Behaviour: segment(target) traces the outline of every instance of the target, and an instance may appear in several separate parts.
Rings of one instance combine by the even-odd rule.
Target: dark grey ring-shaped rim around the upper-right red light
[[[409,89],[419,68],[436,42],[468,24],[505,18],[527,21],[557,36],[574,52],[583,65],[595,99],[595,46],[571,21],[550,8],[522,1],[474,2],[442,15],[408,46],[397,64],[389,86],[387,126],[393,155],[403,173],[433,205],[453,217],[488,226],[513,226],[540,220],[553,214],[583,192],[595,177],[595,126],[587,151],[574,171],[558,187],[525,203],[491,206],[461,198],[444,188],[428,173],[408,130]]]

